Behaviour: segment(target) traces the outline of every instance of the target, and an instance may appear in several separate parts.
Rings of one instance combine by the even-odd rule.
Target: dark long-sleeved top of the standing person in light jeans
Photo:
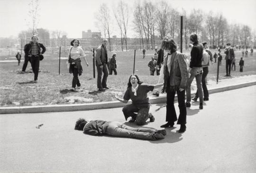
[[[191,50],[191,59],[189,67],[202,67],[202,53],[203,53],[203,46],[201,44],[198,44],[198,42],[195,42],[193,44],[192,50]]]

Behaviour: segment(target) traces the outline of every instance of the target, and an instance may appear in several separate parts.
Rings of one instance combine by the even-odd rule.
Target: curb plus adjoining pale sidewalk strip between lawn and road
[[[256,75],[246,75],[240,77],[220,77],[217,84],[216,81],[208,81],[209,94],[234,90],[242,87],[256,85]],[[192,82],[192,97],[196,92],[195,80]],[[177,98],[175,98],[176,100]],[[165,103],[166,95],[160,94],[159,97],[150,97],[152,104]],[[119,101],[108,101],[98,103],[69,104],[69,105],[43,105],[43,106],[22,106],[22,107],[1,107],[0,114],[13,113],[37,113],[37,112],[59,112],[59,111],[77,111],[77,110],[93,110],[93,109],[109,109],[123,107],[125,104]]]

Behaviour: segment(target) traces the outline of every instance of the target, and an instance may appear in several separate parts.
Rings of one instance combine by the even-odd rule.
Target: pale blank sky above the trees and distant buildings
[[[31,0],[0,0],[0,37],[18,36],[21,30],[27,30],[28,4]],[[118,0],[39,0],[40,17],[38,28],[62,30],[69,38],[81,38],[82,30],[96,32],[94,14],[100,4],[106,3],[110,9]],[[137,0],[124,0],[133,7]],[[159,0],[157,0],[159,1]],[[152,2],[157,2],[152,0]],[[212,10],[222,13],[229,23],[248,25],[256,29],[256,0],[167,0],[178,11],[182,8],[190,12],[193,8],[205,12]],[[132,17],[132,14],[131,14]],[[130,19],[128,36],[134,37]],[[114,26],[117,28],[118,26]],[[113,29],[114,30],[114,29]],[[119,33],[113,31],[112,35]]]

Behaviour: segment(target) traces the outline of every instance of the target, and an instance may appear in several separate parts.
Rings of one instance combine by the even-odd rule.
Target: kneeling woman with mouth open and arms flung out
[[[150,122],[154,122],[154,116],[149,113],[151,105],[147,93],[162,86],[163,83],[156,85],[143,83],[139,81],[136,74],[130,75],[124,98],[121,99],[115,96],[117,100],[123,103],[127,103],[130,99],[132,100],[132,104],[126,105],[123,108],[125,119],[127,120],[128,117],[131,117],[129,122],[136,121],[137,125],[145,124],[148,118],[150,119]]]

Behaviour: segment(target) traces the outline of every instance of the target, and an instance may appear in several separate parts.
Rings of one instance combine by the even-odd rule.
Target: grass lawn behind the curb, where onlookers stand
[[[212,50],[214,53],[216,50]],[[188,52],[189,53],[189,52]],[[0,57],[0,106],[30,106],[30,105],[54,105],[71,103],[90,103],[115,100],[114,94],[123,96],[127,88],[128,77],[133,73],[134,51],[117,52],[117,71],[118,75],[109,75],[108,87],[105,92],[97,91],[97,70],[96,78],[93,78],[92,54],[87,55],[86,59],[89,66],[82,62],[83,73],[79,77],[82,90],[74,93],[69,91],[72,86],[73,75],[68,72],[66,61],[61,59],[60,75],[58,74],[59,59],[58,55],[47,55],[40,61],[41,72],[38,74],[38,83],[32,83],[34,73],[31,73],[31,65],[27,65],[27,73],[21,74],[23,62],[18,66],[17,61],[2,62],[1,60],[16,60],[13,57]],[[153,50],[146,51],[146,57],[143,59],[142,51],[136,52],[135,73],[140,80],[145,83],[156,84],[158,76],[150,76],[148,62],[153,56]],[[249,53],[250,54],[250,53]],[[109,57],[112,53],[109,52]],[[65,57],[66,55],[62,55]],[[224,54],[222,50],[222,56]],[[256,74],[256,54],[251,57],[243,58],[245,61],[244,72],[239,72],[239,60],[241,51],[236,52],[236,71],[231,71],[231,75],[241,76]],[[24,60],[22,57],[21,60]],[[222,60],[220,66],[220,79],[226,74],[225,60]],[[210,65],[208,80],[216,80],[217,64]],[[114,73],[113,73],[114,74]],[[150,92],[149,94],[152,94]]]

